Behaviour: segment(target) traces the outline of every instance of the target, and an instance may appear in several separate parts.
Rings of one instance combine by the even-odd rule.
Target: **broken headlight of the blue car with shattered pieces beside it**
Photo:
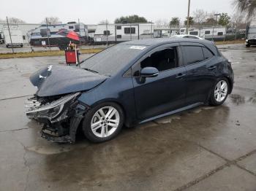
[[[47,118],[52,121],[67,111],[67,107],[80,93],[65,95],[64,97],[48,104],[40,104],[37,99],[31,98],[26,101],[26,114],[30,118]]]

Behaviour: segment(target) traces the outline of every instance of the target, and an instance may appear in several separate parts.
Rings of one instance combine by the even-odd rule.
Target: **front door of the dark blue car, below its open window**
[[[162,51],[167,52],[167,50],[174,51],[176,54],[173,59],[175,66],[170,68],[160,64],[162,63],[162,58],[165,58],[164,55],[160,55],[159,60],[156,57],[159,52],[161,54]],[[172,58],[168,60],[172,65],[173,62],[170,60]],[[150,63],[150,61],[154,61],[154,63]],[[145,80],[141,80],[139,73],[145,63],[147,66],[159,69],[157,77],[147,77]],[[186,93],[184,77],[186,69],[181,59],[181,50],[178,44],[165,44],[148,52],[132,67],[132,75],[135,106],[139,120],[155,117],[184,106]]]

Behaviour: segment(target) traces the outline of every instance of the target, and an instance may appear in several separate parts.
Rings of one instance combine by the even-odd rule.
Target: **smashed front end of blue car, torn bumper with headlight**
[[[89,106],[77,100],[80,93],[73,93],[52,101],[49,98],[29,98],[26,115],[43,124],[42,137],[59,143],[74,143],[78,125]]]

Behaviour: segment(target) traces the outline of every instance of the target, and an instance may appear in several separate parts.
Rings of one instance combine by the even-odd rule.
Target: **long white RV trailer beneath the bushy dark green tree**
[[[153,23],[127,23],[127,24],[100,24],[94,33],[94,42],[116,43],[135,39],[153,38]]]

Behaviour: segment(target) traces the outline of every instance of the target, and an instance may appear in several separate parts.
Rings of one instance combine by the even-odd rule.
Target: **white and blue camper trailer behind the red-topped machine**
[[[58,25],[41,25],[38,28],[31,31],[29,34],[30,44],[32,46],[54,46],[59,47],[61,50],[67,47],[70,40],[65,36],[58,34],[59,31],[75,31],[80,36],[88,41],[88,28],[83,23],[69,22],[67,24],[58,24]],[[79,42],[75,42],[78,44]]]

